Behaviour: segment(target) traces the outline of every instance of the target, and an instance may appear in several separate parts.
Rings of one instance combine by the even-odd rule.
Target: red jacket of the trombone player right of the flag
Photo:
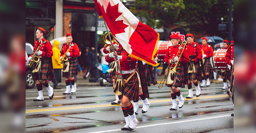
[[[179,51],[180,49],[180,51]],[[178,56],[180,57],[180,54],[183,50],[183,47],[180,46],[180,44],[176,45],[175,47],[174,46],[170,46],[166,49],[166,52],[165,52],[165,62],[166,63],[170,63],[170,60],[172,59],[173,55],[174,57],[175,56]],[[178,53],[179,51],[179,53]],[[177,54],[178,53],[178,54]],[[182,56],[180,58],[180,61],[178,63],[180,64],[185,64],[185,63],[188,63],[189,62],[189,56],[188,56],[188,51],[186,49],[184,49],[183,53],[182,53]],[[175,66],[176,64],[173,64],[173,67]]]

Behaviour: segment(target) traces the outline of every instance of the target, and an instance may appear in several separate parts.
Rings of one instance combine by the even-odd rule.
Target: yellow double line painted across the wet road
[[[207,98],[220,98],[220,97],[228,97],[225,95],[216,95],[216,96],[205,96],[205,97],[194,97],[192,99],[185,100],[197,100],[197,99],[207,99]],[[172,99],[165,99],[165,100],[151,100],[150,103],[155,102],[170,102]],[[142,104],[142,102],[139,102]],[[34,113],[34,112],[46,112],[46,111],[55,111],[55,110],[69,110],[69,109],[83,109],[83,108],[98,108],[98,107],[108,107],[108,106],[120,106],[120,105],[110,105],[110,104],[100,104],[100,105],[86,105],[86,106],[71,106],[71,107],[62,107],[62,108],[49,108],[49,109],[35,109],[35,110],[26,110],[26,113]]]

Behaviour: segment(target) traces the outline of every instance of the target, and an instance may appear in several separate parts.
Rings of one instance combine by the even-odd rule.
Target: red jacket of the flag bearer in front
[[[123,48],[118,48],[117,49],[117,55],[123,56],[122,60],[120,60],[121,70],[132,70],[132,69],[135,69],[135,67],[136,67],[135,65],[136,65],[136,62],[138,60],[128,56],[128,53]],[[109,55],[107,55],[105,57],[105,60],[108,63],[111,63],[111,62],[114,61],[114,58],[109,58]]]

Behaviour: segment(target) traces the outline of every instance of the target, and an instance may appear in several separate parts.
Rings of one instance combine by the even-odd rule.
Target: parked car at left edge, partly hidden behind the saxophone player
[[[30,43],[26,43],[26,89],[31,89],[35,86],[35,82],[32,79],[32,68],[27,66],[29,62],[29,56],[33,54],[34,47]]]

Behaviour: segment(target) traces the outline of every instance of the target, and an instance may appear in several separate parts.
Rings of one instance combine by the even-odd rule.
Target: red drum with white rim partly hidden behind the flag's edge
[[[166,49],[172,46],[171,41],[159,41],[158,47],[157,47],[157,57],[158,57],[158,63],[164,63],[165,62],[165,52]]]

